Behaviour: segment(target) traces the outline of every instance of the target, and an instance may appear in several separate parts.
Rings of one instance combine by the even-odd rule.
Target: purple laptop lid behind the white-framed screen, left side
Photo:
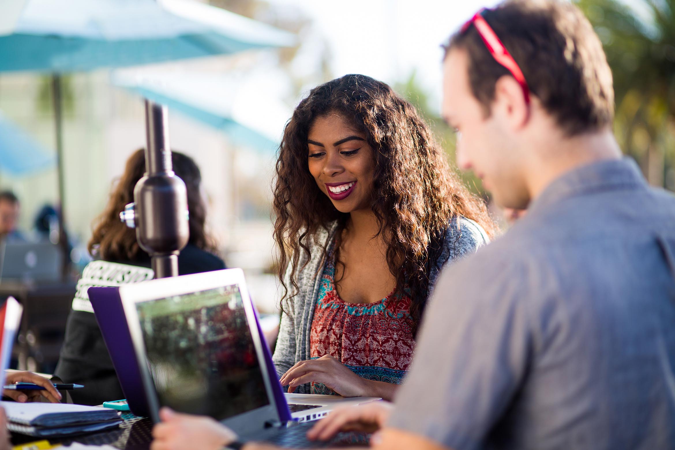
[[[119,298],[119,288],[90,287],[87,293],[129,409],[136,416],[149,417],[148,399],[124,316],[124,307]],[[113,400],[117,399],[110,399]]]

